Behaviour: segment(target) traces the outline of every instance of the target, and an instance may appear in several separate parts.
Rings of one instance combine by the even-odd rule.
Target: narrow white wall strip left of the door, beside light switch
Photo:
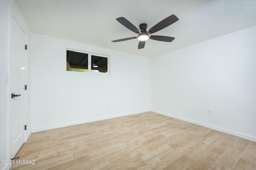
[[[10,30],[10,4],[0,1],[0,160],[8,160],[8,84],[4,84],[4,73],[8,73],[8,41]],[[6,165],[0,164],[0,169]]]

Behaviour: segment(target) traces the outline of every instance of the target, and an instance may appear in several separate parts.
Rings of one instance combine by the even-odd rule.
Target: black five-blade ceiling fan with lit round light
[[[164,20],[158,22],[156,25],[154,25],[152,28],[150,28],[148,31],[147,24],[142,23],[140,24],[140,30],[135,27],[130,21],[126,20],[124,17],[116,18],[118,22],[120,22],[122,25],[124,25],[126,28],[130,29],[131,31],[138,34],[138,37],[129,37],[124,39],[117,39],[112,42],[120,42],[120,41],[126,41],[129,39],[135,39],[138,38],[140,40],[138,49],[143,49],[145,46],[145,41],[147,39],[153,39],[157,41],[164,41],[164,42],[172,42],[174,40],[174,37],[167,37],[167,36],[161,36],[161,35],[151,35],[152,33],[155,33],[157,31],[160,31],[161,29],[164,29],[165,27],[168,27],[169,25],[173,24],[174,22],[178,21],[179,19],[175,15],[168,16]]]

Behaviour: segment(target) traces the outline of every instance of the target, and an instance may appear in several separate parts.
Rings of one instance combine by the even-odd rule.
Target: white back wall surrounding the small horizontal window
[[[110,74],[66,71],[66,48],[110,55]],[[32,33],[32,131],[149,110],[150,58]]]

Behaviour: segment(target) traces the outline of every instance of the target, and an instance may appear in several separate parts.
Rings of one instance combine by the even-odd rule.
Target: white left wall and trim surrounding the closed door
[[[4,73],[9,74],[9,50],[10,50],[10,19],[14,16],[26,33],[26,44],[30,46],[30,29],[20,14],[13,0],[0,1],[0,160],[10,160],[9,155],[9,84],[4,83]],[[30,85],[30,50],[26,51],[26,82]],[[27,138],[31,133],[30,125],[30,90],[26,92],[26,124]],[[26,139],[24,139],[25,141]],[[8,169],[10,164],[0,164],[0,169]]]

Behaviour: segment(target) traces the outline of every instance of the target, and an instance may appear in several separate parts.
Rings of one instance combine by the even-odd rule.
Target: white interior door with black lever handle
[[[25,33],[16,20],[11,18],[10,70],[9,70],[9,141],[10,157],[14,158],[25,140],[24,132],[24,58]],[[12,94],[18,95],[12,98]],[[20,95],[20,96],[19,96]]]

